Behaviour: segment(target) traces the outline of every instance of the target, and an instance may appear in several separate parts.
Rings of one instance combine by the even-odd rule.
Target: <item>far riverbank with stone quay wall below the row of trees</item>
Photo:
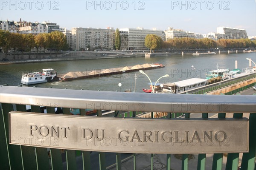
[[[151,57],[167,57],[171,55],[192,55],[193,53],[215,52],[216,54],[244,53],[245,49],[183,49],[183,50],[160,50],[151,54]],[[61,51],[39,53],[0,53],[0,65],[17,64],[28,62],[55,62],[84,59],[110,59],[145,57],[149,51]]]

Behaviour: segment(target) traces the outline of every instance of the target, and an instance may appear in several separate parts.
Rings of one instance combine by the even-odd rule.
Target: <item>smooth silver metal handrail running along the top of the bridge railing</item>
[[[253,95],[117,93],[2,86],[0,103],[115,111],[256,113]]]

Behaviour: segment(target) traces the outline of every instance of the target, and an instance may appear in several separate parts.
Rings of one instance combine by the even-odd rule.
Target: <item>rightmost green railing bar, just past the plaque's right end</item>
[[[255,156],[256,156],[256,113],[250,113],[249,117],[249,152],[243,153],[241,170],[255,169]]]

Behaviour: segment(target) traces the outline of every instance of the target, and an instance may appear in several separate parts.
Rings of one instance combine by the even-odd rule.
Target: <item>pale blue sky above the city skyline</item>
[[[256,36],[256,0],[0,0],[0,20],[49,21],[60,27],[183,29],[198,34],[217,27]]]

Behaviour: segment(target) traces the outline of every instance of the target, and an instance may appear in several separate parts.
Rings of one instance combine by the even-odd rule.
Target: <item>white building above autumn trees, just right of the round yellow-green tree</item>
[[[164,31],[166,34],[166,40],[174,38],[196,38],[195,33],[190,31],[183,31],[182,29],[173,29],[168,27],[168,30]]]

